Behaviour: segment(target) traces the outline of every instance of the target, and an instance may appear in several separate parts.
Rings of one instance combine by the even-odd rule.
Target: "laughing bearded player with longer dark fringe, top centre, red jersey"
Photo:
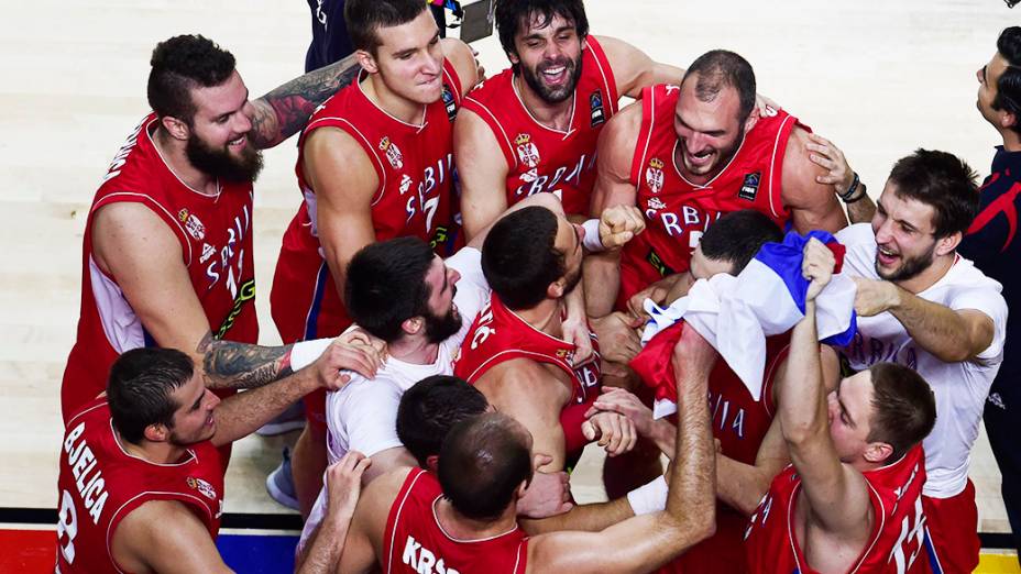
[[[581,0],[501,0],[495,15],[512,66],[465,97],[454,123],[469,238],[540,191],[557,194],[569,214],[588,213],[596,139],[618,98],[683,73],[589,35]]]

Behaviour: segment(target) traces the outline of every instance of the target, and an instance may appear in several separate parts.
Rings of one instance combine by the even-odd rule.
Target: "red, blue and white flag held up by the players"
[[[825,231],[801,236],[789,232],[783,243],[767,243],[737,277],[718,274],[692,285],[687,297],[662,309],[650,299],[651,317],[630,362],[646,385],[656,389],[655,418],[677,412],[677,383],[670,357],[682,329],[694,329],[727,362],[731,369],[761,400],[766,368],[766,338],[792,329],[804,318],[809,280],[801,274],[809,239],[823,242],[836,256],[830,284],[815,299],[820,340],[846,345],[855,334],[855,284],[841,275],[844,246]]]

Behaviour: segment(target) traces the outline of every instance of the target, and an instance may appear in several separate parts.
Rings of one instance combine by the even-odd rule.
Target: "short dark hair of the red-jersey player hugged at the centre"
[[[564,255],[557,251],[557,216],[541,206],[508,213],[482,244],[482,273],[508,309],[530,309],[563,277]]]

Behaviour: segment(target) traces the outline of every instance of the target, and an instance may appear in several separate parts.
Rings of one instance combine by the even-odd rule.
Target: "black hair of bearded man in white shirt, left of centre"
[[[435,254],[418,238],[365,245],[348,263],[344,306],[362,329],[393,343],[400,323],[429,312],[426,274]]]

